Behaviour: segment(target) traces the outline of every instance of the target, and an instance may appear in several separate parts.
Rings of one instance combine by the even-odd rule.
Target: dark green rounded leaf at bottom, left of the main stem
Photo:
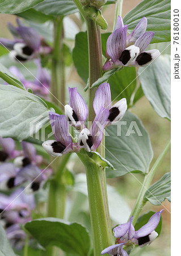
[[[89,253],[89,233],[77,222],[58,218],[40,218],[27,222],[25,228],[44,247],[58,246],[66,253],[78,256],[87,256]]]

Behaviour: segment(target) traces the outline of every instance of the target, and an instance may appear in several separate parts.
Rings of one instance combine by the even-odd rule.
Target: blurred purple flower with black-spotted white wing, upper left
[[[44,55],[52,51],[44,39],[32,28],[26,27],[17,18],[18,27],[8,24],[9,30],[14,36],[14,40],[1,38],[2,46],[11,50],[10,56],[19,61],[26,61],[36,58],[39,54]]]

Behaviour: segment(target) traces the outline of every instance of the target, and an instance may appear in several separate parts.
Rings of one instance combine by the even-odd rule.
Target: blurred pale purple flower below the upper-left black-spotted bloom
[[[15,66],[9,68],[10,72],[19,78],[20,82],[25,86],[26,89],[30,88],[33,93],[37,96],[44,97],[49,99],[49,90],[50,90],[50,75],[47,69],[41,67],[39,59],[35,60],[37,65],[36,78],[33,81],[27,81],[19,69]]]

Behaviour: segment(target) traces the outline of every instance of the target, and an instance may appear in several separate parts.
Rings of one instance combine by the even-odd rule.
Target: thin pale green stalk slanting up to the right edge
[[[154,163],[153,167],[151,168],[151,170],[149,171],[149,173],[145,175],[145,179],[144,179],[144,182],[142,183],[140,193],[137,197],[137,201],[134,204],[132,213],[130,215],[130,217],[133,216],[133,225],[136,224],[137,218],[139,217],[140,212],[146,203],[144,201],[145,192],[150,187],[150,184],[151,184],[151,181],[153,180],[155,172],[157,171],[159,164],[161,164],[162,160],[165,158],[165,155],[167,154],[167,151],[169,150],[169,148],[170,148],[170,141],[167,142],[165,148],[163,149],[161,154],[158,156],[157,160],[155,161],[155,163]]]

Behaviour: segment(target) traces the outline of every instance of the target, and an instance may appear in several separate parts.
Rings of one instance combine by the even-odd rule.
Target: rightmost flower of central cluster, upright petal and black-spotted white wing
[[[127,100],[126,98],[122,98],[112,106],[110,84],[104,82],[99,85],[99,88],[95,92],[93,106],[95,114],[99,113],[102,106],[109,110],[108,125],[110,125],[111,122],[117,122],[123,118],[127,110]]]

